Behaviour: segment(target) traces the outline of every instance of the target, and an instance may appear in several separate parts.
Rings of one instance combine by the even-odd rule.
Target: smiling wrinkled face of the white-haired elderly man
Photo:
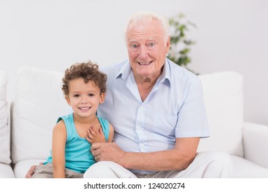
[[[170,46],[159,21],[132,23],[126,31],[126,43],[135,77],[159,77]]]

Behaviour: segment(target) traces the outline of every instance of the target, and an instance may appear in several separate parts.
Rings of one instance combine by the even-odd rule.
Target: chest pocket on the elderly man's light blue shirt
[[[165,113],[156,112],[153,121],[155,138],[161,139],[162,141],[174,141],[177,119],[177,115],[168,115]]]

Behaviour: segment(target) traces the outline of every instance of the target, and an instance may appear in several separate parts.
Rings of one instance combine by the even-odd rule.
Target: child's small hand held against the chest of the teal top
[[[104,143],[105,136],[103,134],[102,128],[90,127],[89,130],[87,130],[85,139],[87,139],[91,145],[92,143]]]

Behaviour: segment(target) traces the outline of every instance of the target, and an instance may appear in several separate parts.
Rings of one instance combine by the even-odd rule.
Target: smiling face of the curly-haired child
[[[79,117],[95,117],[99,104],[104,102],[104,93],[100,94],[100,88],[93,82],[84,82],[83,78],[77,78],[69,82],[69,95],[66,100]]]

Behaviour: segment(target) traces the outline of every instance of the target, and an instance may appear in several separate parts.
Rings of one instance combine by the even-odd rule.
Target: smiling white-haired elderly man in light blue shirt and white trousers
[[[197,154],[208,137],[203,91],[197,75],[166,58],[168,22],[133,14],[126,26],[129,60],[103,69],[108,91],[98,115],[115,128],[115,143],[93,143],[98,162],[84,178],[228,178],[230,156]]]

